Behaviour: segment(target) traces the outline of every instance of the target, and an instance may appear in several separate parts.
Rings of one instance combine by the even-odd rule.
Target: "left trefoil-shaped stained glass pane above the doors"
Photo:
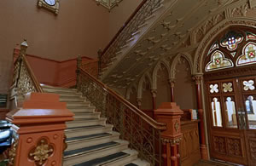
[[[216,50],[212,53],[211,61],[206,66],[206,72],[233,66],[232,60],[225,58],[223,52]]]

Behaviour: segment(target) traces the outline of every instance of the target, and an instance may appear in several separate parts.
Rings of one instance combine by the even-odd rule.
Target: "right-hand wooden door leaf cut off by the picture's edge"
[[[256,77],[237,79],[241,91],[241,129],[245,131],[249,165],[256,163]]]

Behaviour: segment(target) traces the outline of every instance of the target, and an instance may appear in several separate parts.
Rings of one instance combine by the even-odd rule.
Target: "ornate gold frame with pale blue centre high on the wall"
[[[38,0],[38,7],[43,7],[55,14],[59,14],[60,0]]]

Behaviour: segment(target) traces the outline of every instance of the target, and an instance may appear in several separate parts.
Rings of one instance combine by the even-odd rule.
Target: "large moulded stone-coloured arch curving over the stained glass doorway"
[[[207,32],[205,37],[203,37],[201,43],[196,49],[193,68],[194,73],[203,73],[204,57],[209,44],[212,43],[213,38],[217,37],[219,33],[225,31],[225,29],[229,28],[230,26],[248,26],[256,28],[256,19],[246,17],[230,18],[219,22],[216,26],[213,26],[212,29]]]

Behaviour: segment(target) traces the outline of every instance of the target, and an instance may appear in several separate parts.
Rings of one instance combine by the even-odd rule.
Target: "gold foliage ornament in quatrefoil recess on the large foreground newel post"
[[[37,166],[44,165],[47,159],[53,154],[53,146],[48,144],[48,140],[42,139],[38,141],[38,145],[29,152],[29,158],[36,163]]]

